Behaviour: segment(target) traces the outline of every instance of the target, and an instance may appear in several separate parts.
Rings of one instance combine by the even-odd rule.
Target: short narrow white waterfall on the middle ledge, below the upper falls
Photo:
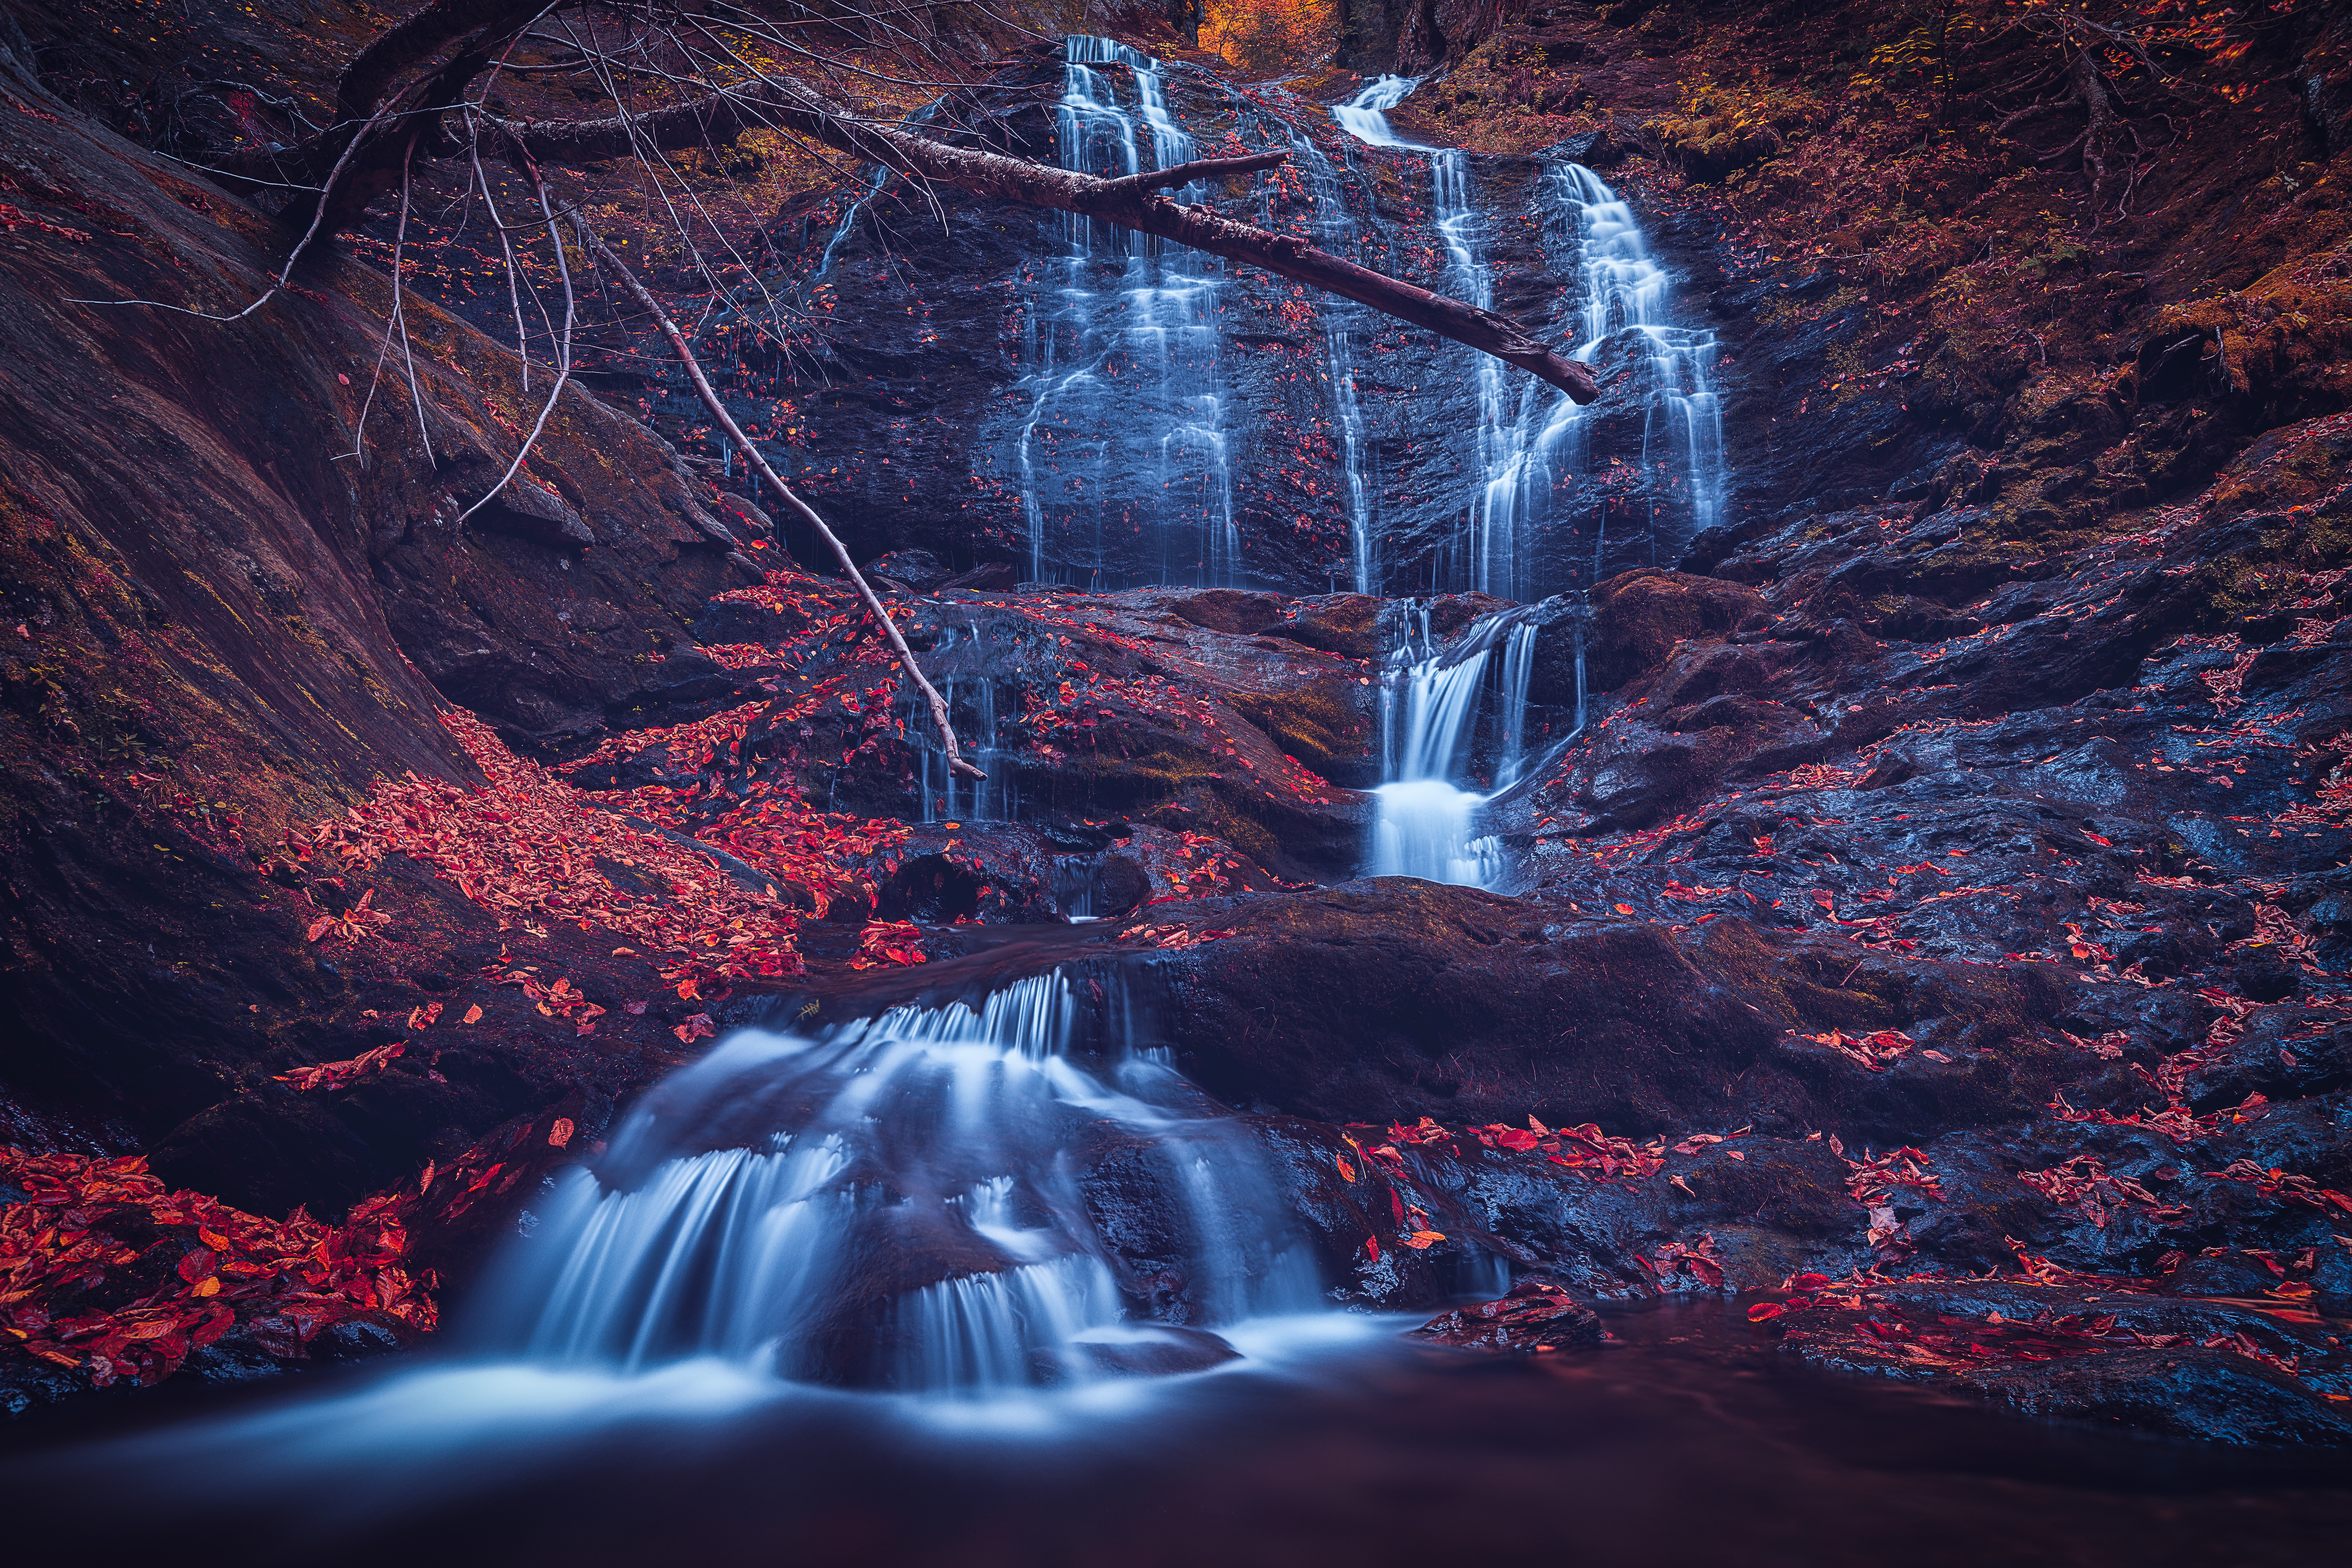
[[[1371,792],[1374,877],[1486,886],[1503,875],[1503,846],[1477,835],[1477,813],[1489,797],[1454,783],[1477,722],[1496,628],[1498,616],[1479,621],[1449,663],[1446,651],[1432,646],[1428,607],[1406,611],[1404,639],[1381,684],[1383,783]]]

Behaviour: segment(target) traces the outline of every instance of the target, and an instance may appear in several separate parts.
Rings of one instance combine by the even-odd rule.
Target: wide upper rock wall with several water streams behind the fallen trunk
[[[814,329],[713,360],[861,555],[1524,602],[1670,564],[1729,503],[1715,336],[1632,202],[1559,150],[1425,146],[1390,122],[1411,89],[1327,108],[1080,35],[924,127],[1087,174],[1284,148],[1176,195],[1526,320],[1595,367],[1597,404],[1256,268],[873,174],[786,219],[767,289]]]

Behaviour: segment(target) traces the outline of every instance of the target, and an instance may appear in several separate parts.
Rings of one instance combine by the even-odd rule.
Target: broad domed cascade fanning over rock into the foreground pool
[[[1073,1159],[1105,1140],[1160,1168],[1171,1324],[1319,1307],[1247,1133],[1148,1053],[1080,1065],[1082,1023],[1056,971],[978,1011],[729,1037],[557,1180],[492,1276],[492,1338],[555,1366],[715,1354],[948,1394],[1084,1382],[1138,1340],[1216,1345],[1131,1321]]]

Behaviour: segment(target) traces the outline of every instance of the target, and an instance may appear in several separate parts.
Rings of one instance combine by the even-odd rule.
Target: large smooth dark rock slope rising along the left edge
[[[729,691],[708,658],[659,654],[739,574],[680,515],[673,456],[576,393],[517,487],[459,524],[529,404],[510,357],[414,301],[433,456],[379,400],[367,463],[339,461],[388,299],[355,261],[322,256],[235,324],[66,303],[233,310],[282,240],[16,89],[49,103],[0,132],[40,186],[19,200],[111,216],[28,228],[0,266],[0,1140],[153,1150],[205,1192],[334,1211],[560,1100],[569,1074],[508,1013],[510,1034],[449,1041],[433,1077],[325,1100],[275,1081],[400,1039],[499,952],[496,917],[395,865],[386,964],[339,961],[303,931],[358,891],[285,837],[379,776],[473,783],[449,698],[546,741]],[[612,943],[579,945],[581,983],[628,1018],[619,973],[586,969]],[[637,1044],[670,1023],[633,1020]]]

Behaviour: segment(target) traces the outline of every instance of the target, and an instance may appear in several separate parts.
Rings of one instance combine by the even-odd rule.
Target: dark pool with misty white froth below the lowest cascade
[[[16,1561],[2298,1563],[2352,1462],[2051,1427],[1797,1366],[1729,1307],[1496,1359],[1319,1314],[1016,1399],[393,1359],[19,1425]],[[153,1396],[148,1396],[153,1399]]]

